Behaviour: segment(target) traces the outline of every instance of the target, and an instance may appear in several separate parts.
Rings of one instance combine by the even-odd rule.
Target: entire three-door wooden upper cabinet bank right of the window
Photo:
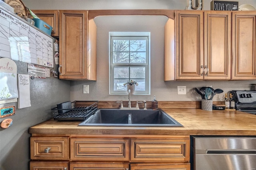
[[[175,50],[169,25],[165,27],[165,81],[256,79],[255,11],[177,10]]]

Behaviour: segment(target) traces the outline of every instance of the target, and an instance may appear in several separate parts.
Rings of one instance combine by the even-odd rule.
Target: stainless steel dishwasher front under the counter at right
[[[191,170],[256,170],[256,136],[191,136]]]

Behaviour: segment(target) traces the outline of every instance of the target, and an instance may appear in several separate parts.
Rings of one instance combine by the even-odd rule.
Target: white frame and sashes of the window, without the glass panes
[[[146,63],[113,63],[112,62],[112,39],[116,38],[146,38]],[[110,95],[123,95],[127,94],[127,91],[120,90],[114,91],[114,67],[133,67],[142,66],[145,67],[145,91],[136,91],[134,95],[150,95],[150,32],[109,32],[109,93]],[[130,77],[130,76],[129,76]]]

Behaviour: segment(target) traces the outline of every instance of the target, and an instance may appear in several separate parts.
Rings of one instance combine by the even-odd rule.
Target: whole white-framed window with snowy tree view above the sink
[[[127,94],[131,80],[138,82],[134,94],[150,94],[150,33],[124,34],[110,33],[110,94]]]

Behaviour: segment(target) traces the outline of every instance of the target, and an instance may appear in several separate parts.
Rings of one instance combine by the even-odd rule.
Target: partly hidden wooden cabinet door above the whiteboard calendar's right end
[[[58,10],[32,10],[38,18],[52,26],[53,37],[59,36],[59,11]]]

